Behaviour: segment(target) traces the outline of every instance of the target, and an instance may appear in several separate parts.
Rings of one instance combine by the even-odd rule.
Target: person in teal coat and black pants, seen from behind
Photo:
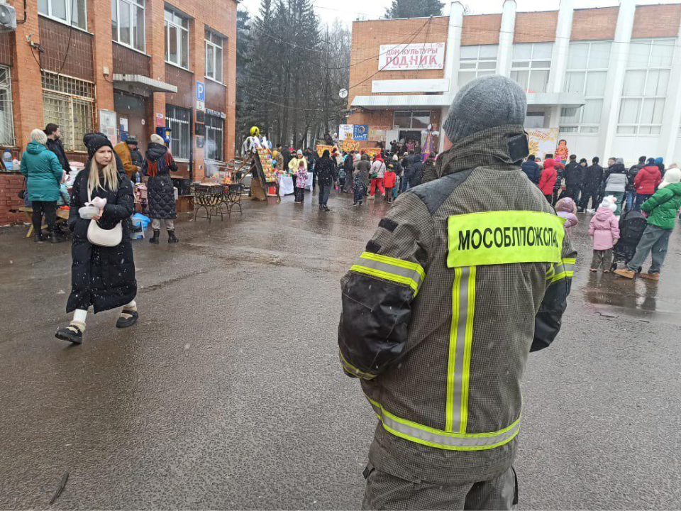
[[[62,180],[62,165],[55,153],[46,147],[48,136],[41,129],[31,131],[31,142],[21,155],[21,173],[26,177],[26,193],[33,208],[35,241],[44,240],[43,215],[50,230],[50,241],[59,243],[57,234],[57,200]]]

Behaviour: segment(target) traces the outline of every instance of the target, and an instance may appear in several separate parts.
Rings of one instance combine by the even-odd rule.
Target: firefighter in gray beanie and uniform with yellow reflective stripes
[[[555,339],[575,251],[519,167],[526,95],[485,76],[456,95],[438,178],[402,194],[342,280],[345,373],[379,422],[365,511],[497,511],[528,354]]]

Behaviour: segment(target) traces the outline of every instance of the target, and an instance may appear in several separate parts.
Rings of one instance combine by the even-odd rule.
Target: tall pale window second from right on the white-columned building
[[[584,94],[585,104],[560,110],[563,133],[598,133],[611,47],[610,41],[570,43],[563,90]]]

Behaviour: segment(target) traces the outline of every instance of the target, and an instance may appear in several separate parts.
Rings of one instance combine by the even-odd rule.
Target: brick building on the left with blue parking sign
[[[238,1],[9,3],[18,24],[0,33],[0,153],[20,154],[33,128],[55,122],[71,160],[87,158],[88,131],[135,136],[144,151],[161,126],[185,183],[233,158]],[[0,174],[0,225],[18,219],[6,211],[17,180]]]

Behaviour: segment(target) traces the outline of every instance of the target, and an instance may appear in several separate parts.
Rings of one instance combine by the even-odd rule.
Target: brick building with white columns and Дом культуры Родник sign
[[[681,163],[681,4],[445,11],[353,23],[348,123],[368,125],[366,145],[437,133],[463,84],[499,74],[526,89],[526,127],[558,128],[570,153]]]

